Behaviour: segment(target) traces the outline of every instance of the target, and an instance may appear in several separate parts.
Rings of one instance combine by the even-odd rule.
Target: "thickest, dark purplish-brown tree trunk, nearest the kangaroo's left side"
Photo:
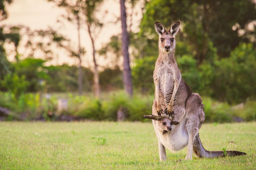
[[[120,17],[121,17],[121,23],[122,23],[122,54],[124,57],[123,80],[124,80],[125,90],[131,97],[133,95],[133,89],[132,89],[130,59],[129,59],[129,52],[128,52],[129,37],[128,37],[127,24],[126,24],[125,0],[120,0],[120,10],[121,10]]]

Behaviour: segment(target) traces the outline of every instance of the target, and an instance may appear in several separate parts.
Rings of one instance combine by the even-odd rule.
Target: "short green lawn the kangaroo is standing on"
[[[151,123],[0,122],[0,169],[255,169],[256,122],[203,124],[208,150],[245,156],[184,159],[187,149],[159,162]]]

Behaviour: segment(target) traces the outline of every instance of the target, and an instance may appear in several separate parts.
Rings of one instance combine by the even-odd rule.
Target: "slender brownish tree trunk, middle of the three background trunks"
[[[89,24],[87,25],[88,27],[88,33],[91,39],[91,45],[93,47],[93,63],[94,63],[94,72],[93,72],[93,80],[94,80],[94,96],[95,98],[100,97],[100,83],[99,83],[99,72],[98,72],[98,65],[96,62],[96,57],[95,57],[95,46],[94,46],[94,38],[91,35],[91,30]]]

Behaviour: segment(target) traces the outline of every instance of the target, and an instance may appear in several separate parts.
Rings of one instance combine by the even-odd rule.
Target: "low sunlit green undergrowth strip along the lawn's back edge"
[[[103,95],[104,96],[104,95]],[[68,101],[68,110],[57,113],[58,99]],[[124,92],[112,92],[105,94],[101,100],[95,99],[92,94],[78,96],[68,94],[60,96],[56,94],[42,95],[0,93],[0,107],[9,109],[14,113],[13,119],[34,120],[52,119],[65,115],[73,119],[110,120],[116,121],[117,111],[125,114],[127,121],[148,121],[142,115],[151,114],[153,95],[136,94],[130,98]],[[256,101],[247,100],[243,107],[218,102],[209,97],[203,97],[205,122],[233,122],[236,117],[244,121],[256,120]]]

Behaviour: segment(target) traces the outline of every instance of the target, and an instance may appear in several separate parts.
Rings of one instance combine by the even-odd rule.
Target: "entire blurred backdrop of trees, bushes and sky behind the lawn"
[[[156,20],[205,121],[254,121],[255,0],[0,0],[0,120],[147,121]]]

